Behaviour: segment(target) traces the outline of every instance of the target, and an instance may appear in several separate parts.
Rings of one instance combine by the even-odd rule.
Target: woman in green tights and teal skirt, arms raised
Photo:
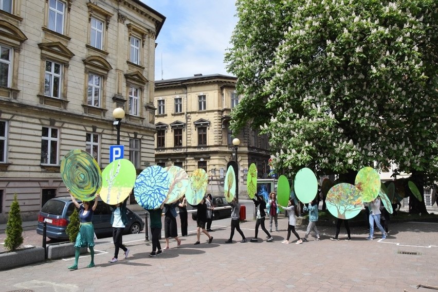
[[[94,267],[94,227],[93,227],[93,213],[97,207],[97,198],[99,194],[96,194],[96,199],[94,201],[94,205],[91,206],[92,202],[82,202],[79,204],[76,201],[76,198],[71,194],[70,189],[67,188],[67,191],[70,193],[71,200],[73,204],[75,204],[76,208],[79,209],[79,220],[81,221],[81,225],[79,226],[79,233],[76,236],[75,243],[75,264],[68,267],[70,270],[78,269],[78,260],[81,247],[87,247],[90,250],[91,262],[87,266],[87,268]]]

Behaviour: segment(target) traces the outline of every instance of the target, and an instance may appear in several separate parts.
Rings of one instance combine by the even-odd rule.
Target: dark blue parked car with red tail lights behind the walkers
[[[78,200],[78,203],[81,204],[81,201]],[[42,235],[43,222],[47,222],[46,234],[49,239],[68,240],[68,235],[65,233],[65,230],[69,223],[69,217],[75,208],[76,206],[73,204],[70,196],[49,199],[38,214],[36,233]],[[92,221],[96,236],[103,237],[113,234],[113,227],[110,223],[112,212],[112,207],[103,203],[99,198],[99,203],[94,211]],[[126,215],[128,224],[124,229],[124,234],[139,233],[143,230],[144,222],[139,215],[128,208],[126,208]]]

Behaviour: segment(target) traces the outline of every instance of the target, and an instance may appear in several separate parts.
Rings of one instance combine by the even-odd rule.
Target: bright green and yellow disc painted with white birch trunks
[[[102,189],[100,197],[109,205],[123,202],[134,188],[137,172],[127,159],[117,159],[109,163],[102,171]]]

